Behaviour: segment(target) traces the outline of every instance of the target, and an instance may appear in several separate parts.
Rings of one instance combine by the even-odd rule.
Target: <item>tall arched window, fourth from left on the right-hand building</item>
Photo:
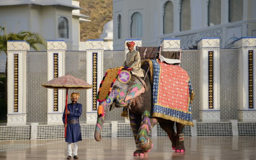
[[[180,31],[191,28],[190,0],[182,0],[180,4]]]

